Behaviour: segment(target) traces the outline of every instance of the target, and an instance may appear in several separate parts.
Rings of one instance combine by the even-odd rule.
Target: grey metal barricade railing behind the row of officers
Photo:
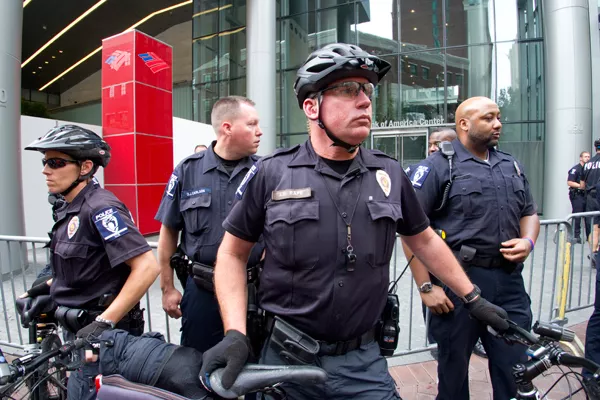
[[[580,213],[567,216],[564,220],[541,221],[540,234],[534,251],[524,263],[523,280],[531,298],[533,320],[555,320],[566,322],[566,314],[586,307],[594,302],[594,275],[592,262],[587,258],[589,246],[573,243],[571,222],[576,218],[600,216],[600,212]],[[583,229],[583,228],[582,228]],[[28,335],[21,327],[15,312],[17,296],[26,291],[38,273],[46,266],[49,251],[44,248],[46,238],[0,236],[0,300],[3,321],[0,327],[0,344],[22,348]],[[155,251],[156,242],[149,242]],[[390,280],[396,280],[405,269],[400,239],[396,239],[390,262]],[[175,279],[178,289],[179,282]],[[419,291],[409,268],[398,282],[400,298],[400,339],[396,356],[428,350],[435,345],[428,342],[428,332]],[[163,332],[166,339],[179,343],[181,320],[169,318],[162,309],[162,294],[158,280],[142,299],[145,308],[146,330]],[[24,339],[25,338],[25,339]]]

